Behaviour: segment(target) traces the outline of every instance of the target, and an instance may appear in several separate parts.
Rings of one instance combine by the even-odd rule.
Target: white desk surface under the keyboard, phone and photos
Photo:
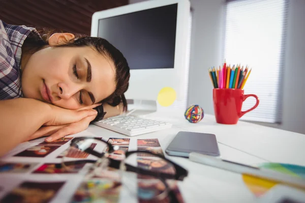
[[[158,112],[145,115],[144,117],[171,122],[173,126],[172,128],[157,132],[128,137],[96,125],[90,125],[82,134],[91,132],[97,137],[103,138],[131,138],[131,143],[135,143],[137,139],[158,138],[163,151],[165,151],[178,131],[213,133],[216,134],[221,157],[224,159],[250,165],[263,162],[281,162],[305,166],[305,156],[303,156],[305,154],[304,134],[242,121],[239,121],[236,125],[222,125],[216,123],[215,117],[211,115],[205,115],[199,123],[189,123],[184,118],[184,112]],[[35,146],[36,144],[31,142],[23,143],[12,150],[11,153],[15,153],[16,150],[20,151],[21,148],[24,150],[26,147],[28,148],[30,145]],[[55,160],[57,154],[50,154],[50,156]],[[2,160],[14,160],[14,158],[16,157],[8,156],[8,158],[4,157]],[[187,158],[172,156],[167,156],[167,158],[177,162],[189,171],[189,176],[184,181],[178,183],[185,202],[256,202],[257,200],[257,197],[245,186],[242,176],[239,174],[195,163]],[[38,159],[32,158],[31,160],[39,161]],[[24,161],[26,161],[25,157]],[[28,174],[28,177],[24,177],[24,175],[16,177],[17,179],[26,180],[30,176],[32,177],[31,174]],[[67,180],[69,177],[70,175],[65,176]],[[56,180],[57,178],[59,180],[62,177],[59,178],[58,175],[50,175],[49,177],[50,180]],[[6,190],[12,189],[13,183],[16,182],[17,184],[17,182],[20,182],[20,180],[11,179],[1,174],[0,179],[0,196]],[[40,179],[39,175],[36,175],[36,179]],[[70,177],[71,179],[72,177]],[[1,191],[1,187],[4,187],[4,184],[12,186]],[[65,188],[74,191],[77,185],[77,182],[70,181],[69,185],[66,185]],[[59,192],[51,202],[58,202],[60,200],[60,202],[63,202],[62,200],[67,196],[69,196],[68,191]],[[120,202],[135,201],[120,196]]]

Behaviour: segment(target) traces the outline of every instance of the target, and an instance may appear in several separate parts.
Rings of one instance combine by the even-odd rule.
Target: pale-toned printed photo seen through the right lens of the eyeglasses
[[[147,171],[154,171],[154,172],[162,172],[167,174],[175,174],[175,167],[161,158],[144,158],[138,157],[137,158],[138,167],[143,168]]]

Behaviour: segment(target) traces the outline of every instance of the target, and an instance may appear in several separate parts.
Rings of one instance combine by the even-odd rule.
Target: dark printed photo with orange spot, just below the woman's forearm
[[[28,148],[14,156],[24,156],[24,157],[45,157],[58,149],[60,145],[36,145],[34,147]]]

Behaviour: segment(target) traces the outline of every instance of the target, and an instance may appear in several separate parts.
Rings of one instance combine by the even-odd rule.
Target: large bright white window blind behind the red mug
[[[245,94],[259,106],[242,120],[279,123],[282,118],[282,71],[288,4],[285,0],[241,0],[226,4],[224,58],[227,64],[252,68]],[[255,105],[250,97],[242,105]]]

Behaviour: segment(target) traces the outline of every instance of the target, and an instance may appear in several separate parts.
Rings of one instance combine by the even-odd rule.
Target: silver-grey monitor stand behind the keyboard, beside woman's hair
[[[131,115],[142,116],[157,112],[156,100],[139,100],[139,99],[127,99],[128,111],[135,109]]]

